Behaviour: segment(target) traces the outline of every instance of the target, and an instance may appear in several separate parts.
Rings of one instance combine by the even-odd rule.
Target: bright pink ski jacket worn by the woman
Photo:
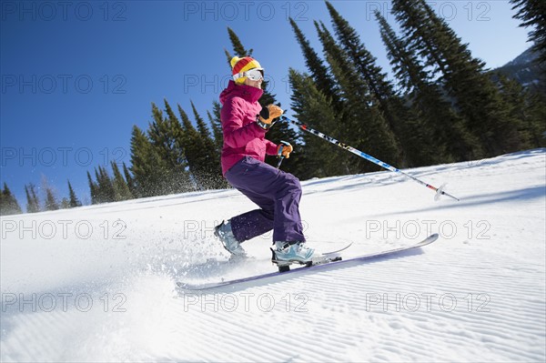
[[[229,81],[220,94],[220,119],[224,134],[223,175],[245,156],[264,161],[266,155],[277,155],[277,145],[266,139],[266,130],[256,123],[256,116],[261,110],[258,99],[263,93],[259,88],[238,86]]]

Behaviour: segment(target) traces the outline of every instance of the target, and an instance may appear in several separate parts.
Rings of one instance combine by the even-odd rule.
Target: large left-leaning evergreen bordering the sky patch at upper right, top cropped
[[[424,0],[411,4],[393,0],[392,5],[410,46],[420,49],[431,66],[438,66],[441,83],[470,132],[480,139],[486,156],[519,149],[524,143],[517,131],[521,120],[510,117],[509,106],[502,104],[498,88],[484,72],[484,63],[471,56],[468,45]]]

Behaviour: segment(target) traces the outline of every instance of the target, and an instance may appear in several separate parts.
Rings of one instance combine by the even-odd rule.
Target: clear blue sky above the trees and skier
[[[288,67],[305,70],[288,15],[321,53],[313,20],[330,26],[322,1],[0,2],[0,182],[25,208],[24,186],[46,180],[57,197],[69,179],[89,202],[86,171],[129,163],[133,125],[146,129],[151,103],[201,116],[227,84],[227,26],[266,68],[289,108]],[[379,66],[389,72],[373,17],[389,1],[333,1]],[[529,47],[508,1],[436,1],[472,55],[502,66]],[[331,28],[331,26],[330,26]],[[109,167],[109,166],[108,166]]]

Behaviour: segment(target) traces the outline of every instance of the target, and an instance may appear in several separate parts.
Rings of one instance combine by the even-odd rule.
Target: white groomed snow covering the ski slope
[[[354,157],[354,156],[348,156]],[[0,360],[544,361],[546,149],[302,183],[309,245],[418,253],[255,281],[270,235],[235,263],[212,235],[235,190],[1,218]]]

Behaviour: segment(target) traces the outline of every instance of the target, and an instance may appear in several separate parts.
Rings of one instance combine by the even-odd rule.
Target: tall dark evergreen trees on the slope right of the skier
[[[396,84],[349,22],[328,1],[326,6],[334,32],[315,21],[323,56],[290,19],[308,68],[289,71],[299,121],[403,167],[546,144],[544,94],[491,75],[424,0],[392,1],[399,35],[376,13]],[[358,156],[339,155],[315,136],[301,138],[310,167],[299,177],[377,169]]]

